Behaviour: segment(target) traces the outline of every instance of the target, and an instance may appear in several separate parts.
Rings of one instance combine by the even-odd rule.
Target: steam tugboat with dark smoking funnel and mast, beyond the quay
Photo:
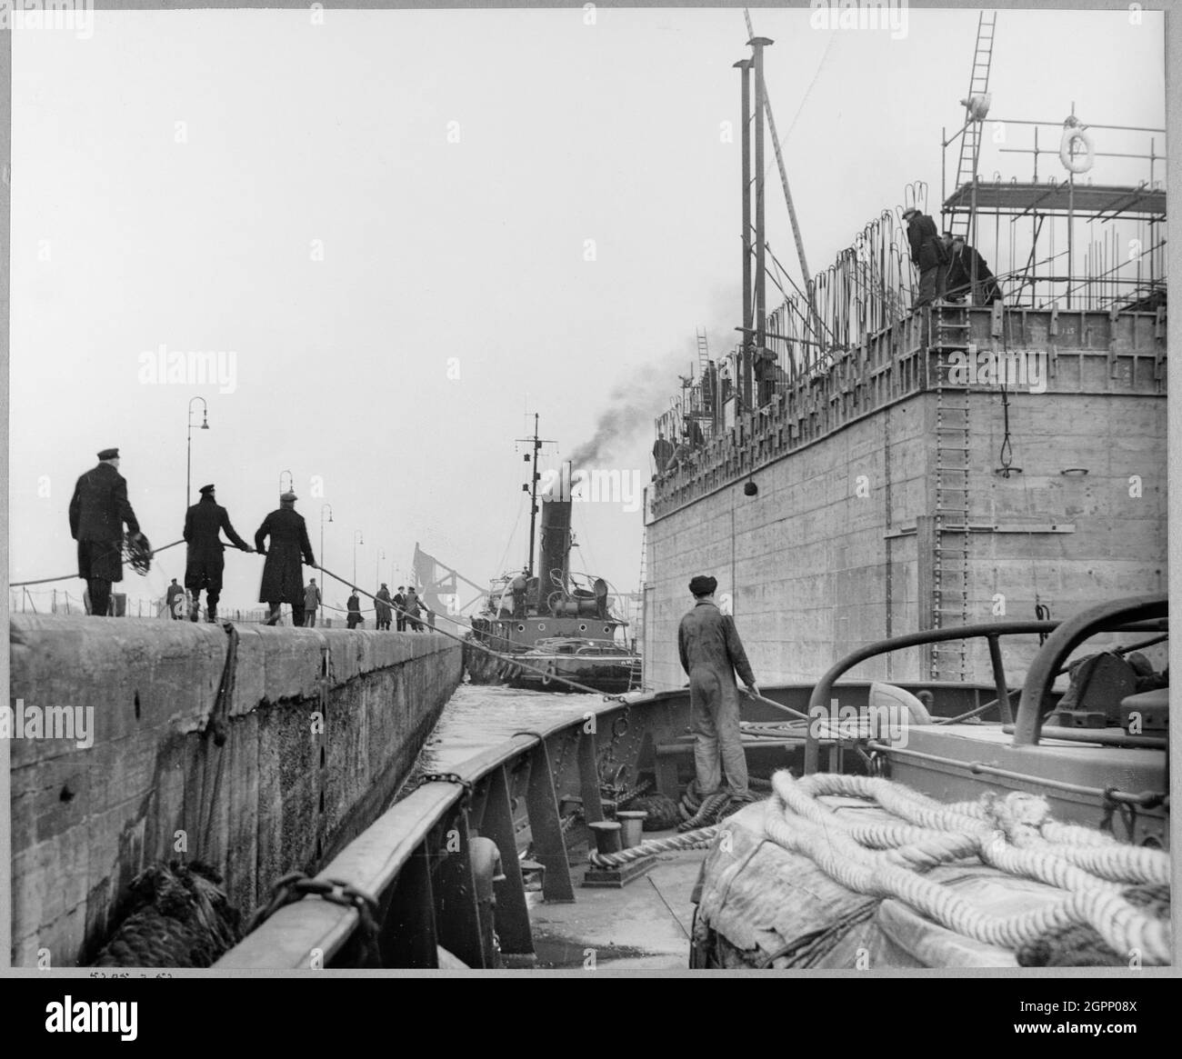
[[[534,569],[538,513],[538,437],[534,417],[530,503],[530,556],[517,573],[489,584],[485,609],[473,618],[465,668],[475,684],[502,683],[547,691],[621,694],[641,684],[641,657],[626,641],[629,623],[613,611],[602,577],[570,569],[571,464],[563,463],[541,494],[541,540]],[[618,635],[618,638],[617,638]]]

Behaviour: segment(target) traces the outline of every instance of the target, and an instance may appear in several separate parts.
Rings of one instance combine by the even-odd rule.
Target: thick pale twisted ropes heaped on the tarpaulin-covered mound
[[[1020,791],[944,805],[870,777],[816,773],[795,780],[778,772],[772,784],[767,838],[808,857],[847,890],[902,901],[956,934],[1015,950],[1019,962],[1059,963],[1069,955],[1106,964],[1170,962],[1170,857],[1163,850],[1056,823],[1045,799]],[[821,795],[868,799],[901,819],[859,823],[823,805]],[[923,877],[963,858],[1064,896],[1002,917]]]

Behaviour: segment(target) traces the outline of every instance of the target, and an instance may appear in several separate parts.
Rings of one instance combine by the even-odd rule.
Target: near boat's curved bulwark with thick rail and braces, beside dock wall
[[[480,901],[479,853],[474,839],[495,843],[504,879],[495,891],[495,923],[502,956],[533,954],[525,875],[541,876],[547,902],[573,902],[561,803],[571,795],[563,775],[577,786],[589,823],[605,818],[600,793],[599,740],[628,733],[629,701],[591,706],[553,725],[518,732],[465,761],[455,773],[428,774],[388,808],[317,875],[307,892],[323,901],[284,903],[277,884],[274,911],[230,949],[216,967],[319,969],[331,966],[435,968],[443,949],[470,968],[493,966],[482,935],[487,909]],[[628,736],[624,735],[626,739]],[[564,759],[566,768],[564,769]],[[517,812],[525,810],[524,819]],[[517,852],[520,824],[527,824],[534,863]],[[540,871],[539,871],[540,869]],[[316,884],[337,882],[323,894]],[[348,885],[344,881],[348,881]]]

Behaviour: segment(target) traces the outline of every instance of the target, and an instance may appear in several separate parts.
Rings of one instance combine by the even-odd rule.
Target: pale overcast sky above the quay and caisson
[[[753,11],[814,272],[908,182],[939,206],[978,15],[907,14],[894,39]],[[479,583],[524,563],[527,412],[557,459],[613,390],[639,394],[643,429],[592,466],[648,481],[695,327],[722,352],[741,319],[740,9],[95,19],[13,41],[12,579],[73,569],[67,503],[106,446],[152,543],[177,539],[196,395],[194,492],[215,482],[249,539],[290,469],[318,558],[351,577],[361,531],[371,590],[378,550],[403,580],[416,541]],[[992,116],[1162,125],[1162,50],[1157,13],[1004,11]],[[1142,175],[1121,167],[1097,183]],[[1028,160],[987,139],[995,169]],[[768,241],[797,274],[771,178]],[[161,347],[232,352],[233,378],[152,382]],[[584,567],[636,586],[637,505],[583,503],[574,528]],[[254,605],[261,565],[228,553],[223,608]],[[182,574],[174,548],[123,589]]]

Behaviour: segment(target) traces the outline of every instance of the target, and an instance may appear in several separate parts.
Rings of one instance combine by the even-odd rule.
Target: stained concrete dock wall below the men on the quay
[[[235,629],[228,673],[220,625],[12,617],[14,964],[87,962],[157,859],[248,915],[389,804],[462,676],[434,634]]]

